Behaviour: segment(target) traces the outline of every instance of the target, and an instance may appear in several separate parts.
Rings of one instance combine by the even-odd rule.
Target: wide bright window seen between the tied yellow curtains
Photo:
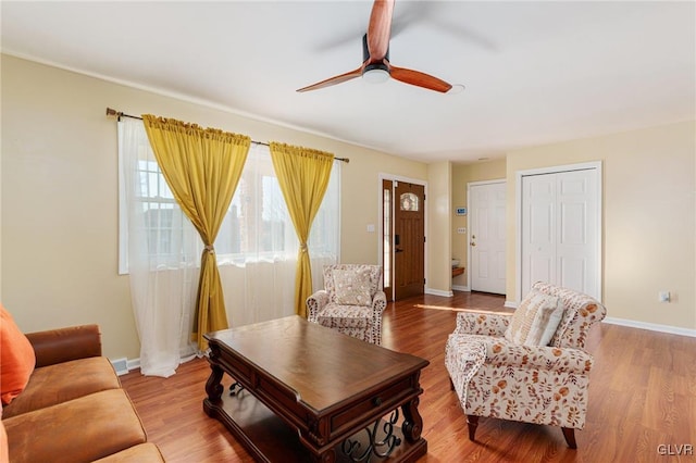
[[[128,236],[145,234],[150,270],[197,265],[202,243],[187,245],[192,226],[181,211],[154,160],[142,124],[127,139],[120,127],[120,262],[121,274],[128,273]],[[128,159],[132,159],[128,162]],[[324,201],[310,235],[310,256],[338,256],[339,177],[336,162]],[[130,179],[130,175],[135,175]],[[128,225],[126,185],[133,185],[132,201],[141,214],[138,225]],[[196,240],[195,240],[196,241]],[[198,239],[197,241],[200,241]],[[252,145],[227,214],[215,239],[217,263],[244,265],[246,262],[275,262],[295,259],[297,235],[275,176],[270,150]]]

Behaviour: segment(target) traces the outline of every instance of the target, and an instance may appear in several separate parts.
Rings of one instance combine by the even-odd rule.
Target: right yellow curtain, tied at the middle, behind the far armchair
[[[277,142],[271,142],[270,147],[273,167],[300,241],[295,280],[295,313],[307,318],[304,301],[312,293],[312,268],[307,240],[328,186],[334,155]]]

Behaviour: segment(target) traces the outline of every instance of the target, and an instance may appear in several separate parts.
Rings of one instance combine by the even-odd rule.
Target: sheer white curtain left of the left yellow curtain
[[[141,121],[119,122],[119,149],[140,371],[167,377],[196,350],[190,333],[201,241],[157,167]]]

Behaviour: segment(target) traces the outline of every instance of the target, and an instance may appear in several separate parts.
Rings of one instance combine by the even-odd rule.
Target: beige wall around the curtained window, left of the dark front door
[[[111,107],[326,150],[343,164],[341,260],[378,262],[378,175],[427,165],[220,109],[2,55],[3,304],[34,331],[98,323],[104,353],[139,356],[128,277],[117,275],[116,124]],[[378,229],[378,227],[377,227]]]

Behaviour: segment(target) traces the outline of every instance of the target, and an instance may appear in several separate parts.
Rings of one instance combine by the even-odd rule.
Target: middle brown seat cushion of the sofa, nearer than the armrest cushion
[[[3,422],[13,463],[89,462],[146,441],[123,389],[90,393]]]

